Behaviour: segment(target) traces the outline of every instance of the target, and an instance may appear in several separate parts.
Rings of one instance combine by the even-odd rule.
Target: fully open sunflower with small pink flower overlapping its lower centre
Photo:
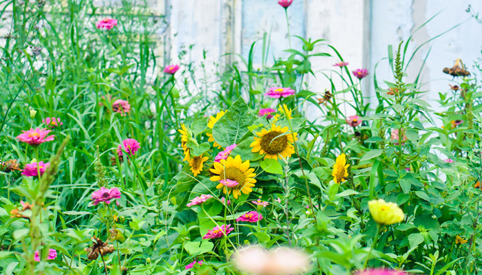
[[[209,169],[213,174],[211,181],[219,181],[216,189],[222,188],[224,194],[229,195],[233,191],[233,197],[238,199],[241,192],[249,194],[256,183],[253,168],[249,168],[249,160],[242,162],[240,155],[221,159],[214,162],[214,168]]]

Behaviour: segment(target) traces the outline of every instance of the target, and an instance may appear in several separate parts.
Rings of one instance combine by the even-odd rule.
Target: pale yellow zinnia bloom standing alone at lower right
[[[397,203],[386,202],[383,199],[368,201],[368,210],[373,219],[382,225],[399,223],[405,218],[404,211],[398,207]]]

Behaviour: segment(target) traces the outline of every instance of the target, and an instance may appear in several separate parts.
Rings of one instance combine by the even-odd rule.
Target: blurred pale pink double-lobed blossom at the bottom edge
[[[233,263],[248,274],[294,275],[307,272],[310,260],[306,253],[294,248],[266,251],[258,246],[249,246],[234,254]]]

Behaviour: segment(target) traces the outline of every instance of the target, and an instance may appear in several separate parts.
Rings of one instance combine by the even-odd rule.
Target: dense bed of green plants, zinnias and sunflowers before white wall
[[[156,54],[147,4],[7,2],[3,273],[482,273],[480,66],[450,56],[431,106],[410,41],[379,79],[278,0],[286,58],[198,79],[191,48]]]

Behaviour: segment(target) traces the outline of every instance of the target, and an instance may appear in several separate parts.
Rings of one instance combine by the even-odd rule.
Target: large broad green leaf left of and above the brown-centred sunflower
[[[239,98],[214,124],[214,140],[224,148],[238,143],[244,134],[249,131],[248,126],[253,125],[255,120],[255,115],[249,111],[244,99]]]

